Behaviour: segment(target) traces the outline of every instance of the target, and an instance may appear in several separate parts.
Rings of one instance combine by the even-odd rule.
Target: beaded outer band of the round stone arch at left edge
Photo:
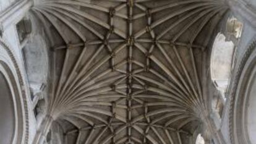
[[[22,96],[20,96],[22,99],[20,100],[22,109],[19,109],[19,111],[22,111],[22,114],[25,116],[22,117],[23,129],[21,134],[23,135],[20,138],[21,142],[17,142],[17,144],[19,143],[28,144],[28,138],[29,138],[28,104],[27,104],[27,96],[24,89],[25,87],[24,78],[22,76],[22,72],[17,63],[17,58],[12,53],[12,50],[9,48],[9,46],[4,42],[4,40],[0,38],[0,60],[1,59],[8,60],[7,65],[10,66],[12,74],[17,78],[17,81],[18,81],[17,85],[19,86],[20,93],[22,94]]]

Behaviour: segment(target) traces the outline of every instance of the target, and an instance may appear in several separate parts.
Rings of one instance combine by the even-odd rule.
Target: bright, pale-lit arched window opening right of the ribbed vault
[[[234,43],[227,41],[226,36],[219,33],[214,41],[211,52],[211,79],[218,93],[213,96],[212,108],[221,117],[226,90],[233,64]]]

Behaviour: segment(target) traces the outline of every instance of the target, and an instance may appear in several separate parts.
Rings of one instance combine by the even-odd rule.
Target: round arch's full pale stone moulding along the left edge
[[[17,62],[17,57],[9,45],[0,38],[0,72],[4,75],[12,91],[14,103],[15,128],[12,143],[28,144],[28,104],[25,80]]]

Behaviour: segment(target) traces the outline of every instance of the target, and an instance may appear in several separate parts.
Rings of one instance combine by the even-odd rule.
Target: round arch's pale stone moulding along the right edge
[[[255,119],[249,120],[249,100],[252,98],[250,93],[255,91],[255,87],[252,86],[256,80],[255,49],[256,40],[245,51],[234,75],[229,106],[229,136],[232,144],[254,143],[250,140],[252,130],[249,130],[249,121]]]

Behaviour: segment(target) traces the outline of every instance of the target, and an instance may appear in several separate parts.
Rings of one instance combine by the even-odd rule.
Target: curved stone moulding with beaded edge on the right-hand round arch
[[[230,106],[229,106],[229,136],[232,144],[250,143],[247,127],[245,127],[244,119],[247,114],[242,110],[245,108],[244,103],[246,96],[245,87],[249,82],[250,72],[256,62],[256,40],[250,44],[245,51],[244,56],[236,70],[236,75],[231,87]],[[246,75],[246,76],[245,76]],[[244,117],[244,118],[243,118]]]

